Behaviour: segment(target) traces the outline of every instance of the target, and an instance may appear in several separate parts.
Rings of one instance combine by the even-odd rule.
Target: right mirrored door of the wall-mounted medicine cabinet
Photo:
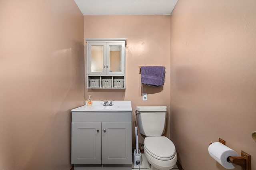
[[[106,43],[106,73],[124,75],[124,42]]]

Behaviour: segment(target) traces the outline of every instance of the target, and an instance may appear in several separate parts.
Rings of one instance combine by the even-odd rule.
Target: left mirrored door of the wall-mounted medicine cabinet
[[[88,43],[88,74],[106,74],[106,43]]]

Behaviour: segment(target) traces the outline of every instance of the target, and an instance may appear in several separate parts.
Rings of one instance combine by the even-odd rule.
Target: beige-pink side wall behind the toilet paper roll
[[[256,170],[255,6],[180,0],[172,13],[171,138],[185,170],[224,170],[207,150],[218,138]]]

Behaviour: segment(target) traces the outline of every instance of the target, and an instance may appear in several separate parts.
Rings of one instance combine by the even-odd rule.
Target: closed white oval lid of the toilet
[[[170,160],[176,154],[174,144],[165,136],[147,136],[144,148],[148,154],[159,160]]]

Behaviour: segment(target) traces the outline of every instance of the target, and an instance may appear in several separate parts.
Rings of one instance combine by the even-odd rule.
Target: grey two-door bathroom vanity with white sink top
[[[72,109],[71,164],[74,170],[132,169],[131,101]]]

